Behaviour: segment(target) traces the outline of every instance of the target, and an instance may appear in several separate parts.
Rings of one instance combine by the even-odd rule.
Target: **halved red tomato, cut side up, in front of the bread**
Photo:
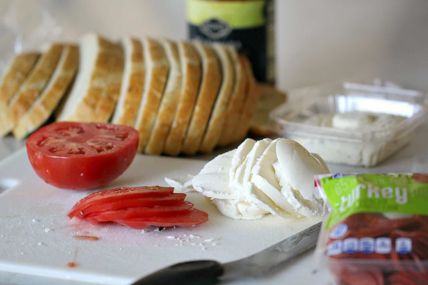
[[[30,135],[27,153],[48,184],[86,190],[112,181],[131,165],[138,136],[130,126],[57,122]]]

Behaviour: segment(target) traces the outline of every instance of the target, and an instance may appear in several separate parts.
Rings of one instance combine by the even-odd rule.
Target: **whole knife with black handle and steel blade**
[[[221,264],[195,260],[174,264],[143,277],[132,285],[216,284],[241,277],[264,276],[285,261],[315,247],[321,222],[244,259]]]

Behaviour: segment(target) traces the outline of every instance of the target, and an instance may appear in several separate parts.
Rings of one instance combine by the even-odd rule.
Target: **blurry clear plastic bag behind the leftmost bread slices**
[[[0,1],[0,75],[22,52],[40,50],[62,32],[48,9],[49,1]]]

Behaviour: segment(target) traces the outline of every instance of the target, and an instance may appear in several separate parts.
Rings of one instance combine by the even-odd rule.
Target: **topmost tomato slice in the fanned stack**
[[[125,201],[143,197],[169,196],[173,192],[174,188],[161,186],[121,187],[97,191],[77,201],[68,213],[68,217],[71,219],[88,206],[113,202],[125,203]]]

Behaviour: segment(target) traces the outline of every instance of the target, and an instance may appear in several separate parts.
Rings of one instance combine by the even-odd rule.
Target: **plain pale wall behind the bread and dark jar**
[[[12,2],[27,22],[46,7],[61,40],[187,36],[184,0],[3,0],[0,16]],[[276,12],[279,88],[380,76],[428,90],[428,0],[276,0]]]

